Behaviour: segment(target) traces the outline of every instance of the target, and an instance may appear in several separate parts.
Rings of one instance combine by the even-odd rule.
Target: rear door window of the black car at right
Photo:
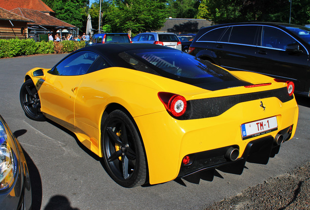
[[[258,26],[233,26],[231,36],[229,38],[230,43],[256,45],[255,35]]]

